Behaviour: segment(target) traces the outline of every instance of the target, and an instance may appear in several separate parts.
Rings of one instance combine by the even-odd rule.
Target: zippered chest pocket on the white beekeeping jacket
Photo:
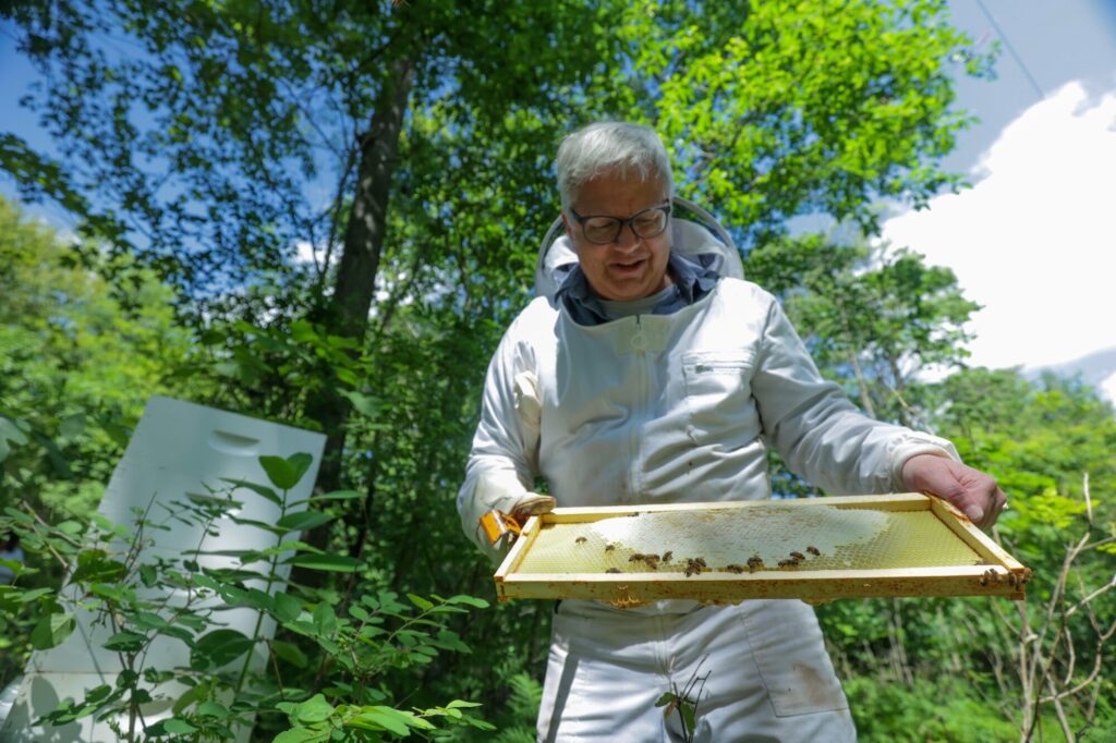
[[[682,356],[686,433],[695,443],[740,446],[756,432],[751,379],[754,355],[745,351],[694,351]]]

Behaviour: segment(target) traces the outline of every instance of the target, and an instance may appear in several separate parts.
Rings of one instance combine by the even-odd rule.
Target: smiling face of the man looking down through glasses
[[[581,216],[626,219],[637,212],[668,203],[666,187],[657,180],[639,182],[603,174],[581,186],[571,206]],[[566,232],[577,251],[589,286],[603,299],[633,300],[650,297],[670,284],[666,263],[671,257],[671,230],[654,238],[638,238],[625,224],[610,243],[600,245],[585,238],[583,226],[562,214]]]

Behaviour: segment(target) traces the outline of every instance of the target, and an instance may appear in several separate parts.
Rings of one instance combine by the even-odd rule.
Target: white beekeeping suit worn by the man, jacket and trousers
[[[537,272],[540,296],[508,328],[489,365],[481,419],[458,496],[463,529],[481,549],[488,544],[477,528],[480,517],[490,509],[510,513],[536,476],[561,506],[762,500],[771,495],[769,446],[790,470],[830,494],[902,490],[901,471],[911,456],[956,456],[949,442],[866,417],[837,385],[824,380],[776,299],[743,280],[739,254],[719,225],[674,219],[671,229],[672,250],[693,260],[705,257],[720,281],[670,315],[598,325],[579,325],[555,298],[556,277],[576,255],[565,235],[545,242]],[[703,673],[761,685],[767,701],[760,707],[775,722],[727,713],[713,739],[740,740],[724,736],[725,726],[751,735],[773,725],[780,740],[810,740],[805,721],[812,713],[848,716],[810,607],[744,601],[723,610],[734,617],[729,639],[739,636],[733,647],[749,647],[750,657],[710,657]],[[606,683],[604,676],[614,672],[623,682],[627,672],[617,670],[613,660],[618,648],[631,655],[632,633],[646,621],[657,623],[655,631],[672,627],[668,636],[685,635],[687,647],[701,648],[713,643],[702,627],[723,621],[724,615],[716,614],[723,610],[681,600],[626,611],[564,601],[555,617],[540,737],[591,737],[609,721],[619,725],[600,732],[604,740],[642,730],[643,723],[662,724],[661,711],[654,711],[654,720],[624,712],[615,693],[602,701],[608,706],[605,718],[595,720],[586,713],[593,702],[579,697],[579,688]],[[698,625],[684,629],[694,617]],[[599,648],[579,637],[585,631],[602,638]],[[619,646],[608,646],[609,633]],[[681,658],[666,663],[660,667],[663,673],[651,674],[657,678],[654,684],[638,681],[638,670],[627,682],[633,688],[668,691],[665,679],[681,685],[685,678],[675,676],[696,659],[690,666]],[[750,675],[738,678],[745,667]],[[804,685],[807,677],[820,681]],[[643,706],[639,701],[634,708]],[[741,720],[733,728],[725,721],[735,717]],[[625,733],[631,736],[615,740],[661,740],[644,732],[646,739]]]

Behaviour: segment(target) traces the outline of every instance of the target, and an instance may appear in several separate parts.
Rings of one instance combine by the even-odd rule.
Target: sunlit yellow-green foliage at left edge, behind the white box
[[[0,200],[0,506],[88,514],[147,397],[189,353],[174,295]]]

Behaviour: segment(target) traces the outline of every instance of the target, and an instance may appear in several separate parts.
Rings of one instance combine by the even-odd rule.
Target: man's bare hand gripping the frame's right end
[[[990,475],[944,456],[917,454],[903,465],[903,485],[949,501],[981,529],[991,529],[1008,498]]]

